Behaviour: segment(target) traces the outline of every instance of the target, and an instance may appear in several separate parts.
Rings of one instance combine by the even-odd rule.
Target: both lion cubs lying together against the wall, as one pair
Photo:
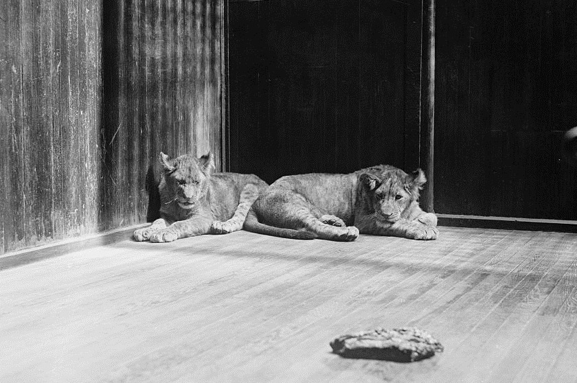
[[[376,165],[351,174],[299,174],[270,186],[253,174],[214,173],[209,152],[185,154],[163,167],[159,219],[134,232],[137,241],[172,242],[207,233],[248,231],[295,239],[354,241],[359,233],[435,240],[437,217],[418,205],[427,181]]]

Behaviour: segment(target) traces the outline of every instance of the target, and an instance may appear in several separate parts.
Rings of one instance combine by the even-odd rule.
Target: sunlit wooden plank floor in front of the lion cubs
[[[67,249],[0,258],[0,382],[577,382],[574,234],[122,235]],[[403,326],[444,353],[330,352],[341,334]]]

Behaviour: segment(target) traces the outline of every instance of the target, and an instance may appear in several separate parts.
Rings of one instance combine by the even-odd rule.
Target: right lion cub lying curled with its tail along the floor
[[[352,241],[365,233],[434,240],[437,217],[418,205],[425,182],[421,170],[409,175],[390,165],[285,176],[253,203],[245,229],[299,239]]]

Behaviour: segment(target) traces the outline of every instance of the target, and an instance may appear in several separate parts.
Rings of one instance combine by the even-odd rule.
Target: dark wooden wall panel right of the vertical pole
[[[435,211],[577,219],[577,5],[437,0]]]

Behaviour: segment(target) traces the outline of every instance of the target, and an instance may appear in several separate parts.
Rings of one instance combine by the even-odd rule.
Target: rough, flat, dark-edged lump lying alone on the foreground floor
[[[330,343],[332,352],[343,358],[415,362],[442,352],[443,346],[427,332],[415,327],[375,329],[343,335]]]

